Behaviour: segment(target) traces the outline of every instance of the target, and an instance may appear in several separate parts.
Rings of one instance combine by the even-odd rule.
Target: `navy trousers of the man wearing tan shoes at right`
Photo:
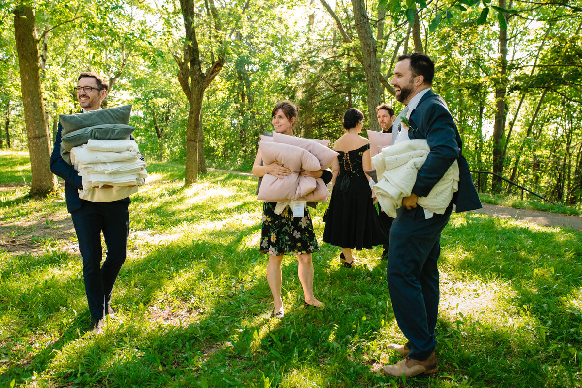
[[[426,360],[437,345],[440,298],[438,258],[441,231],[449,221],[453,204],[445,214],[425,220],[424,209],[400,207],[390,229],[386,281],[398,327],[407,337],[413,360]]]

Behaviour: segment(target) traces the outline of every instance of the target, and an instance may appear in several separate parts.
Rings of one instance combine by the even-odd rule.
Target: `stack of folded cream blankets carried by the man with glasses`
[[[81,199],[111,202],[137,192],[147,178],[147,164],[140,159],[133,140],[89,139],[71,149],[71,162],[83,178]]]

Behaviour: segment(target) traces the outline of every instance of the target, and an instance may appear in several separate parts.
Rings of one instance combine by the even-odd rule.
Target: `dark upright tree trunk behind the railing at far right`
[[[499,0],[499,7],[506,8],[506,1]],[[507,20],[505,14],[503,17]],[[493,124],[493,172],[498,175],[503,174],[503,137],[505,136],[505,121],[507,118],[506,94],[507,94],[507,56],[508,56],[508,30],[499,28],[499,72],[498,85],[495,89],[495,122]],[[493,176],[491,192],[493,194],[501,191],[501,179]]]

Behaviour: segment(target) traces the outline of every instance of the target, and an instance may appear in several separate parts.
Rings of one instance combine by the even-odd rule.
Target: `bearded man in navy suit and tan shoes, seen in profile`
[[[386,268],[396,322],[408,342],[389,344],[390,349],[406,358],[386,365],[382,372],[411,377],[438,369],[434,329],[440,297],[437,261],[441,254],[441,231],[449,221],[453,204],[459,212],[479,209],[481,201],[462,155],[463,143],[455,121],[445,101],[431,91],[432,60],[420,53],[401,55],[393,74],[391,84],[396,100],[406,105],[393,124],[393,139],[398,136],[402,118],[408,117],[410,139],[426,139],[430,148],[411,195],[402,199],[402,207],[396,211]],[[423,209],[417,204],[418,197],[427,196],[455,160],[459,163],[459,191],[445,213]]]

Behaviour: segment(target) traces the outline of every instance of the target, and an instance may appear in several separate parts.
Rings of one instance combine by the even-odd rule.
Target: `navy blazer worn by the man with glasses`
[[[51,153],[51,172],[58,177],[65,179],[65,199],[67,202],[67,210],[72,213],[79,210],[84,202],[84,199],[79,198],[79,191],[83,190],[83,178],[80,177],[79,171],[75,170],[73,166],[67,163],[61,157],[61,131],[63,127],[59,123],[58,130],[55,136],[55,145]],[[133,139],[133,136],[131,136]],[[120,199],[114,202],[132,202],[129,197]]]

